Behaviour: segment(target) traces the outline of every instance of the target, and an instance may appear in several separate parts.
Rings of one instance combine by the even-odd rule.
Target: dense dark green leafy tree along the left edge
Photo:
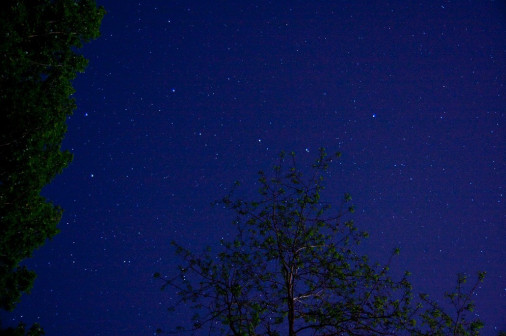
[[[57,232],[62,210],[40,195],[72,160],[61,151],[75,108],[71,81],[104,15],[92,0],[0,5],[0,308],[14,309],[35,273],[20,262]]]

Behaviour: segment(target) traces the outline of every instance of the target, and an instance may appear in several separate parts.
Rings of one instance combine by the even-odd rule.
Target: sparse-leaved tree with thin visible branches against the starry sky
[[[155,277],[162,288],[177,290],[178,304],[195,311],[193,325],[176,332],[478,335],[481,322],[466,316],[473,307],[464,276],[448,294],[456,313],[447,314],[425,295],[414,299],[409,273],[392,279],[390,261],[375,264],[356,253],[367,234],[348,218],[351,197],[345,194],[338,207],[321,199],[323,177],[336,157],[322,149],[306,176],[294,155],[282,154],[273,176],[259,173],[258,199],[229,195],[220,202],[237,214],[236,236],[222,240],[221,251],[199,255],[175,244],[184,264],[174,277]]]

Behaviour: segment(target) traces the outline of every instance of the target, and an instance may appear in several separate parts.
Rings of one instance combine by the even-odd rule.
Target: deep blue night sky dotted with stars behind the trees
[[[100,39],[74,82],[63,147],[74,160],[44,195],[61,233],[10,323],[47,335],[153,335],[174,293],[169,246],[231,233],[211,207],[281,150],[300,165],[340,151],[327,191],[349,192],[364,253],[441,298],[487,271],[483,335],[506,329],[504,1],[100,1]]]

